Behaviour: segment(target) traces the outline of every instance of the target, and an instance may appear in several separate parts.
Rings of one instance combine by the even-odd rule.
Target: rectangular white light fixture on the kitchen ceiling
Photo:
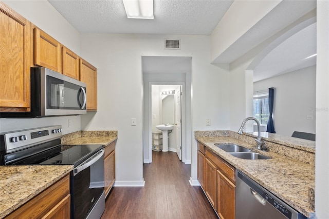
[[[154,19],[153,0],[122,0],[128,18]]]

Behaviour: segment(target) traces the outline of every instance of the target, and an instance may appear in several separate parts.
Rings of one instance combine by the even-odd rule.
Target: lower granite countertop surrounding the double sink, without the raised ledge
[[[195,136],[195,139],[306,217],[314,218],[314,208],[309,201],[312,199],[309,197],[309,189],[315,186],[314,165],[279,153],[258,150],[254,145],[231,136]],[[216,147],[214,143],[241,145],[271,159],[244,160]]]

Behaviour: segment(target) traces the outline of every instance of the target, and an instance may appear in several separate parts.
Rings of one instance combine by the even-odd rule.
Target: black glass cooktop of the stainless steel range
[[[57,146],[24,158],[12,165],[74,165],[78,166],[103,148],[102,145]]]

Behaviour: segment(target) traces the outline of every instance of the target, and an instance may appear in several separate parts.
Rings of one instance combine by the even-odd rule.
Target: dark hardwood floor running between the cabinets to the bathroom
[[[199,186],[191,186],[191,165],[174,152],[153,151],[144,164],[144,187],[114,187],[105,202],[105,218],[217,218]]]

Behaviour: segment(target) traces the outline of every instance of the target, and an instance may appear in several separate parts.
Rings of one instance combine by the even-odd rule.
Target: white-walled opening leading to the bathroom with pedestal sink
[[[152,132],[160,131],[157,130],[155,126],[163,123],[173,123],[176,124],[173,130],[175,133],[173,133],[172,131],[169,134],[169,150],[177,152],[177,156],[181,160],[181,162],[185,164],[191,164],[191,75],[192,57],[142,56],[144,163],[152,163]],[[162,97],[164,96],[168,96],[168,100],[172,99],[172,97],[169,97],[170,95],[161,96],[161,94],[159,93],[160,88],[163,88],[164,91],[175,91],[175,93],[181,93],[178,99],[177,95],[172,95],[174,101],[170,101],[174,102],[174,109],[180,108],[180,110],[178,111],[174,110],[174,115],[171,115],[171,117],[174,117],[174,122],[166,122],[162,119],[162,108],[161,112],[160,110],[152,112],[152,105],[154,103],[158,103],[157,105],[159,106],[160,98],[161,104]],[[157,92],[158,94],[152,97],[152,95],[154,95],[154,92]],[[156,101],[154,101],[154,98],[156,99]],[[177,104],[179,104],[180,107],[177,107]],[[176,118],[178,118],[179,116],[181,117],[181,119],[176,120]],[[178,129],[177,121],[179,121]],[[177,135],[177,132],[181,134]],[[181,145],[177,143],[181,143]]]

